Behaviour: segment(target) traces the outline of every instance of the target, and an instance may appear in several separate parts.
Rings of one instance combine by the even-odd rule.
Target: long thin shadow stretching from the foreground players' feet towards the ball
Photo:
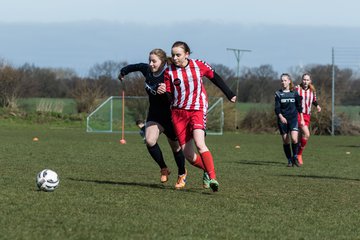
[[[173,186],[165,186],[164,184],[157,183],[139,183],[139,182],[115,182],[107,180],[89,180],[89,179],[79,179],[79,178],[68,178],[71,181],[77,182],[88,182],[96,184],[110,184],[110,185],[122,185],[122,186],[136,186],[136,187],[146,187],[146,188],[157,188],[157,189],[167,189],[172,191],[181,191],[181,192],[194,192],[201,194],[211,194],[211,192],[201,192],[203,189],[180,189],[176,190]]]

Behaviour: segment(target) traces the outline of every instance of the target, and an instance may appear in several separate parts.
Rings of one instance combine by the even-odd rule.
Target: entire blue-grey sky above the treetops
[[[1,0],[0,58],[86,75],[95,63],[144,62],[151,49],[184,40],[210,63],[235,68],[226,49],[236,48],[251,50],[242,66],[286,71],[331,63],[332,47],[357,47],[359,9],[358,0]]]

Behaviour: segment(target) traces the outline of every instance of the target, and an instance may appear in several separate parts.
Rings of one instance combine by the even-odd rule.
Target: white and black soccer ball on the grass
[[[50,169],[44,169],[36,175],[36,186],[39,190],[52,192],[59,186],[59,176]]]

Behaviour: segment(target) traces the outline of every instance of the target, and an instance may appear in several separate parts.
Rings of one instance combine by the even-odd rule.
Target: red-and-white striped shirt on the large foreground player
[[[165,71],[166,91],[173,95],[172,107],[185,110],[203,110],[208,107],[202,77],[212,79],[214,70],[198,59],[188,59],[186,67],[171,64]]]

